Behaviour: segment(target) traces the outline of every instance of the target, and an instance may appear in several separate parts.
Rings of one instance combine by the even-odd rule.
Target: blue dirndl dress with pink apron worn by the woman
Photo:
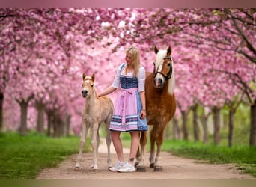
[[[138,93],[138,78],[120,74],[120,84],[121,91],[115,102],[109,129],[119,132],[147,130],[147,120],[139,117],[142,105]],[[141,123],[144,126],[142,128],[138,126]]]

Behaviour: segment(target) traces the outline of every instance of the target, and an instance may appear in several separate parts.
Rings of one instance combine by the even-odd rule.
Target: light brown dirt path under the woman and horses
[[[115,150],[112,147],[112,164],[116,162]],[[124,150],[128,158],[129,150]],[[146,153],[146,160],[149,153]],[[100,145],[98,158],[98,171],[91,171],[92,153],[84,153],[82,156],[82,169],[74,168],[77,154],[70,156],[58,166],[58,168],[47,168],[40,172],[37,179],[252,179],[247,174],[240,174],[234,165],[212,165],[198,163],[193,159],[184,159],[162,152],[162,166],[164,171],[153,172],[146,164],[146,172],[118,173],[107,169],[106,144]]]

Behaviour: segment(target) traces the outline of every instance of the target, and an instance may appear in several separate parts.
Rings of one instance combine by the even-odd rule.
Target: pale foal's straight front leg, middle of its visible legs
[[[99,128],[99,124],[94,123],[92,127],[92,137],[91,137],[91,147],[93,149],[93,155],[94,155],[93,165],[91,166],[91,168],[94,170],[99,169],[97,165],[97,149],[100,141],[98,128]]]

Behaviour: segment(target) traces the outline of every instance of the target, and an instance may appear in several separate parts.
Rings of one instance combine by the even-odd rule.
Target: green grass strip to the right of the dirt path
[[[198,159],[199,162],[215,164],[234,164],[241,173],[256,177],[256,147],[249,146],[215,146],[204,145],[192,141],[164,141],[162,150],[169,151],[175,156]]]

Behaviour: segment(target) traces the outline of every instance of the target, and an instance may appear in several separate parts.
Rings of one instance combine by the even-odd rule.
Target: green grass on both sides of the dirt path
[[[124,147],[130,146],[129,133],[121,133]],[[150,142],[147,142],[147,150]],[[85,152],[90,150],[85,144]],[[21,136],[17,132],[0,133],[0,179],[34,179],[43,168],[56,167],[67,156],[78,153],[79,137],[49,138],[30,132]],[[232,163],[241,173],[256,177],[256,147],[246,145],[227,147],[204,145],[194,141],[165,140],[162,150],[216,164]]]

